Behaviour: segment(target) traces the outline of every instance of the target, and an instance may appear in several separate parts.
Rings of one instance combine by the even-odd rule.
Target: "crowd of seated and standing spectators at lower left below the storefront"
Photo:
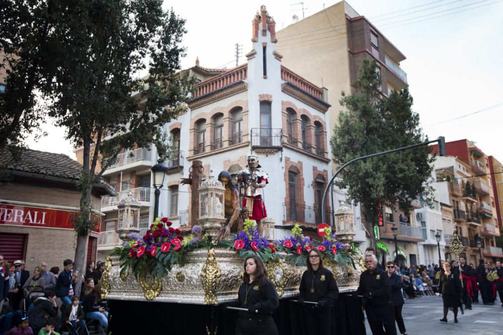
[[[0,255],[0,335],[82,335],[88,326],[106,333],[108,312],[100,285],[104,263],[89,264],[85,275],[73,270],[70,259],[62,265],[62,271],[58,266],[48,270],[41,262],[30,274],[23,260],[11,264]],[[76,285],[81,285],[79,296]]]

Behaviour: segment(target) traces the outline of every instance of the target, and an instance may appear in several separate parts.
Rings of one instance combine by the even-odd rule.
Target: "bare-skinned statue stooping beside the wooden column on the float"
[[[236,233],[243,230],[244,219],[247,218],[247,209],[239,206],[239,192],[237,188],[231,182],[231,176],[228,171],[222,171],[218,175],[218,181],[222,183],[225,187],[225,218],[226,225],[218,233],[217,241],[220,241],[225,236],[229,235],[230,232]]]

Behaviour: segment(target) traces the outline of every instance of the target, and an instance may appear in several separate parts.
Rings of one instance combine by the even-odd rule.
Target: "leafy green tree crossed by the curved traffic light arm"
[[[330,140],[333,161],[343,165],[357,157],[427,141],[412,111],[412,97],[407,88],[381,94],[381,78],[375,61],[364,60],[359,78],[353,83],[355,93],[343,97],[339,124]],[[358,161],[343,171],[336,185],[347,188],[347,197],[360,203],[367,222],[371,244],[375,246],[374,226],[380,204],[406,212],[412,200],[429,193],[426,181],[431,176],[434,158],[427,146]]]

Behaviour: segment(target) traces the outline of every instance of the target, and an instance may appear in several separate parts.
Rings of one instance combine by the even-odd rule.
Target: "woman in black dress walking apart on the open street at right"
[[[442,264],[444,271],[440,274],[440,292],[444,301],[444,317],[440,319],[442,322],[447,322],[447,313],[449,308],[453,309],[454,322],[458,323],[458,307],[460,304],[461,281],[459,273],[451,272],[451,265],[447,262]]]

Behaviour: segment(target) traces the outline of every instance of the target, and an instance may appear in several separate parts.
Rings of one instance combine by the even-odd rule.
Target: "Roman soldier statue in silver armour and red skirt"
[[[269,183],[268,176],[267,173],[259,170],[262,166],[257,156],[248,156],[246,162],[246,169],[239,171],[236,179],[244,186],[242,206],[248,208],[248,217],[257,222],[259,234],[262,235],[264,233],[262,219],[267,216],[267,212],[260,189]]]

